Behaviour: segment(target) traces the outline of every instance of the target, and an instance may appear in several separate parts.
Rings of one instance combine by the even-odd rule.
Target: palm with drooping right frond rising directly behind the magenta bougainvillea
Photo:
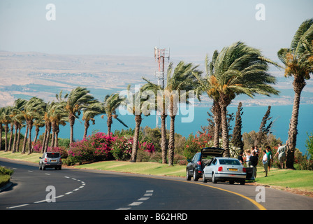
[[[119,107],[119,105],[121,105],[124,102],[124,100],[125,100],[124,97],[119,97],[118,93],[112,93],[110,95],[107,94],[104,98],[103,110],[105,115],[108,117],[107,120],[108,134],[111,133],[111,125],[113,123],[112,118],[115,118],[116,120],[119,121],[119,123],[128,128],[128,126],[125,125],[125,123],[122,120],[117,118],[116,114],[116,109]],[[101,116],[101,118],[103,118],[103,116]]]

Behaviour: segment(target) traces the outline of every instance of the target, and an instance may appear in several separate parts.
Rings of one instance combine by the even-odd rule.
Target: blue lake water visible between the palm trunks
[[[261,120],[267,111],[268,106],[249,106],[243,107],[243,115],[242,115],[242,133],[243,132],[251,132],[255,130],[259,131],[259,127],[261,124]],[[196,134],[198,130],[201,130],[201,126],[208,125],[208,111],[210,108],[205,107],[194,107],[194,119],[190,123],[182,123],[181,119],[186,118],[187,116],[183,116],[178,114],[175,119],[175,132],[178,134],[182,134],[184,137],[188,137],[189,134]],[[229,113],[235,113],[237,111],[237,107],[228,107]],[[288,138],[288,130],[289,130],[289,121],[291,119],[291,111],[292,105],[288,106],[272,106],[270,111],[270,116],[272,116],[272,121],[274,124],[272,126],[272,134],[274,134],[277,138],[280,138],[283,142],[286,142]],[[121,119],[128,127],[135,127],[135,120],[133,115],[121,115],[119,114],[119,119]],[[235,125],[235,119],[233,120],[232,126]],[[143,122],[141,123],[141,127],[156,127],[156,116],[143,116]],[[170,126],[170,118],[167,119],[167,126],[169,129]],[[84,134],[84,122],[80,119],[75,121],[74,125],[74,139],[79,140],[82,139]],[[111,128],[112,132],[115,130],[126,129],[121,123],[117,120],[113,119],[113,124]],[[33,129],[34,130],[34,129]],[[106,125],[106,117],[101,118],[100,116],[96,117],[96,124],[90,125],[88,134],[92,134],[94,130],[99,130],[99,132],[107,132],[108,127]],[[41,129],[40,134],[44,132],[44,128]],[[298,118],[298,137],[297,137],[297,146],[302,153],[305,153],[305,143],[307,139],[307,133],[310,134],[313,132],[313,104],[301,104]],[[24,133],[24,130],[22,130]],[[59,137],[60,138],[69,138],[70,127],[67,124],[64,127],[60,127]],[[34,132],[35,134],[35,132]],[[32,136],[34,137],[34,134]]]

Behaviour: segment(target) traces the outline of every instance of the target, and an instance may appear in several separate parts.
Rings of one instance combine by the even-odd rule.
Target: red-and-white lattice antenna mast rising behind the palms
[[[166,50],[165,48],[160,49],[160,48],[154,47],[154,59],[159,64],[159,69],[157,72],[155,72],[155,76],[157,76],[158,78],[158,85],[160,85],[162,89],[164,90],[164,87],[165,87],[164,63],[165,63],[165,59],[167,59],[168,62],[170,61],[170,50]],[[155,123],[156,127],[161,127],[161,125],[159,125],[159,119],[160,119],[160,114],[157,111],[156,123]]]

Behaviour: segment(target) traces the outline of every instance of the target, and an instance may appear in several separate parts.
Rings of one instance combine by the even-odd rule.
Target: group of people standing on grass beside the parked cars
[[[286,151],[288,148],[288,141],[286,141],[286,145],[282,146],[282,144],[278,144],[277,153],[275,154],[275,157],[278,156],[279,163],[284,168],[284,162],[286,161]],[[251,149],[247,149],[245,151],[245,162],[247,167],[254,167],[254,177],[256,177],[256,166],[259,162],[259,148],[258,146],[252,146]],[[265,150],[263,150],[263,167],[265,171],[265,177],[268,176],[268,172],[270,171],[270,166],[272,164],[273,160],[272,155],[272,149],[270,146],[266,146]],[[243,158],[243,152],[238,155],[238,160],[241,162],[242,165],[244,165],[244,158]]]

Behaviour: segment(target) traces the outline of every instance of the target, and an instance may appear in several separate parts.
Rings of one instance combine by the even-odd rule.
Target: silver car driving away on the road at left
[[[48,152],[43,153],[39,160],[39,169],[54,168],[62,169],[61,153]]]

